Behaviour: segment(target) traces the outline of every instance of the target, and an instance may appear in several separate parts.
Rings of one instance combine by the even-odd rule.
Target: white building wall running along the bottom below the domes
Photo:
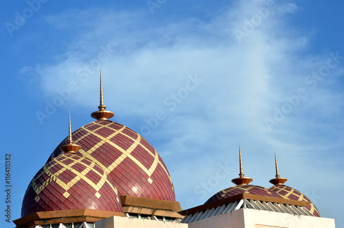
[[[335,228],[334,219],[241,208],[194,223],[171,223],[140,218],[110,217],[95,228]]]

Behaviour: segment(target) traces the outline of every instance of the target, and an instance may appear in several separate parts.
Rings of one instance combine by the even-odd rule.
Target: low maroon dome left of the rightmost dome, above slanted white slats
[[[233,187],[228,187],[220,192],[217,192],[217,194],[211,196],[211,198],[209,198],[208,201],[206,201],[206,203],[219,201],[224,198],[229,198],[231,196],[237,196],[241,193],[282,198],[282,196],[280,196],[276,192],[268,190],[266,187],[260,187],[257,185],[236,185]]]

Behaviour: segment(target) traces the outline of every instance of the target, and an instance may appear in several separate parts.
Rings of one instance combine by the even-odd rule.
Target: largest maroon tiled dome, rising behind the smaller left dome
[[[138,133],[109,120],[97,120],[72,133],[81,146],[77,152],[103,168],[114,181],[120,196],[138,196],[175,201],[169,171],[158,152]],[[48,162],[63,154],[63,140]]]

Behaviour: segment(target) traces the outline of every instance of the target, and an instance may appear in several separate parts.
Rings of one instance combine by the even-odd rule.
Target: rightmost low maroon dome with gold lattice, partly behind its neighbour
[[[293,201],[310,202],[310,205],[308,205],[305,208],[308,209],[308,211],[310,211],[310,213],[312,213],[314,216],[320,217],[320,213],[318,209],[316,209],[315,205],[310,201],[309,198],[307,198],[304,194],[302,194],[298,190],[295,190],[294,188],[286,186],[286,185],[274,185],[270,187],[269,190],[272,192],[276,192],[283,198],[288,198]]]

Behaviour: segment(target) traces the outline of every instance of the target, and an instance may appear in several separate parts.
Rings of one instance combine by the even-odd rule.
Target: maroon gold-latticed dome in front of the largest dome
[[[94,161],[72,152],[49,161],[32,179],[21,217],[66,209],[122,212],[114,182]]]

